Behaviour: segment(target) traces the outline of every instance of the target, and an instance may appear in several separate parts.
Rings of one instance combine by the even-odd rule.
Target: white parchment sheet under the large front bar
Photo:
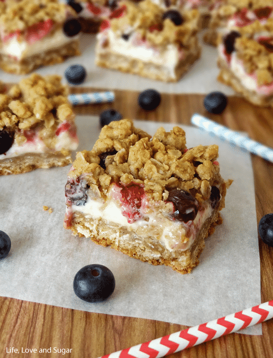
[[[98,118],[77,116],[78,150],[91,149]],[[161,125],[135,121],[154,134]],[[63,228],[64,187],[69,166],[0,177],[0,230],[11,238],[0,260],[0,295],[90,312],[149,318],[194,326],[261,303],[260,257],[250,155],[193,127],[187,146],[219,145],[220,172],[234,182],[222,210],[223,224],[206,240],[200,265],[181,275],[166,266],[130,258]],[[52,214],[43,210],[46,205]],[[114,274],[116,288],[103,303],[86,303],[73,292],[73,279],[85,265],[98,263]],[[261,324],[244,333],[262,334]]]

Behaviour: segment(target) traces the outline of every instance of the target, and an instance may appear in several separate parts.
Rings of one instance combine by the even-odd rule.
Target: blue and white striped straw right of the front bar
[[[232,131],[229,128],[222,126],[216,122],[213,122],[200,114],[194,114],[191,119],[192,124],[195,124],[201,129],[214,135],[225,139],[231,144],[236,144],[241,148],[248,150],[249,152],[259,155],[262,158],[273,162],[273,149],[259,142],[253,141],[236,131]]]

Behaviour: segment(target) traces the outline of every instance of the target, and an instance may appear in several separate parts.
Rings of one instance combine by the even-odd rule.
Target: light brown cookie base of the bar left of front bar
[[[66,166],[72,162],[69,153],[27,153],[0,160],[0,175],[27,173],[38,168]]]

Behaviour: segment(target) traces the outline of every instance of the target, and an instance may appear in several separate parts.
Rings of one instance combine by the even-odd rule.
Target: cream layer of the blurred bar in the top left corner
[[[55,31],[53,36],[45,36],[36,41],[34,44],[28,44],[27,41],[19,42],[16,36],[13,36],[7,43],[2,43],[0,53],[16,57],[18,60],[29,56],[37,55],[48,50],[53,50],[68,44],[72,40],[78,39],[79,35],[68,37],[65,35],[63,29]]]

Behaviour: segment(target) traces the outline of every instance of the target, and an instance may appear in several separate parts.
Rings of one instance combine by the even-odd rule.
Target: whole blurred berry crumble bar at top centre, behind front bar
[[[95,63],[166,82],[177,81],[199,58],[199,12],[164,9],[150,0],[124,1],[102,22]]]

